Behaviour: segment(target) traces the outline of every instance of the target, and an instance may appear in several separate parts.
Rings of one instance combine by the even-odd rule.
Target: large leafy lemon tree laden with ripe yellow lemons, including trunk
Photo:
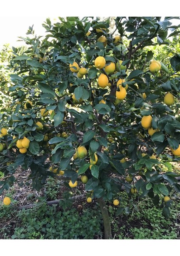
[[[171,164],[180,156],[180,55],[169,40],[180,32],[168,33],[172,18],[116,17],[110,34],[108,20],[59,17],[43,24],[44,39],[29,28],[28,49],[13,48],[9,64],[11,111],[0,115],[7,129],[0,134],[0,193],[16,182],[19,166],[31,170],[37,190],[48,176],[60,175],[72,192],[83,180],[87,202],[99,203],[106,239],[106,202],[117,215],[130,211],[122,189],[129,204],[149,196],[170,215],[171,194],[180,192]],[[171,53],[165,64],[154,58],[159,44]]]

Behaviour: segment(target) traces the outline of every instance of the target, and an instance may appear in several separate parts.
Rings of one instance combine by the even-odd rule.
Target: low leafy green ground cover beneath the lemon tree
[[[102,239],[103,224],[98,203],[88,204],[85,198],[70,203],[48,206],[46,201],[62,198],[63,184],[49,178],[45,188],[34,191],[29,187],[13,186],[6,196],[12,199],[10,206],[0,205],[1,239]],[[77,191],[84,193],[84,185]],[[170,218],[165,218],[160,207],[149,198],[138,195],[128,197],[119,193],[120,207],[125,211],[117,215],[118,207],[107,202],[114,239],[180,239],[180,201],[172,198]],[[133,199],[133,200],[132,200]],[[14,206],[34,204],[31,209],[16,210]]]

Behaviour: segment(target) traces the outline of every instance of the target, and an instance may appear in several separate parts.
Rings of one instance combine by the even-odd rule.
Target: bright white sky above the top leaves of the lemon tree
[[[63,2],[63,3],[62,3]],[[135,1],[129,0],[128,9],[121,7],[121,1],[113,0],[113,6],[106,7],[104,1],[90,0],[16,0],[13,2],[1,0],[0,3],[0,48],[3,44],[10,46],[20,46],[24,43],[18,41],[20,36],[25,37],[29,26],[34,24],[35,34],[45,35],[45,29],[42,23],[46,18],[50,18],[53,22],[54,18],[66,16],[178,16],[180,13],[171,11],[168,5],[168,11],[157,0],[151,0],[151,6],[141,9],[141,0],[138,1],[138,6]],[[153,2],[156,8],[154,8]],[[125,2],[123,2],[125,3]],[[173,4],[173,1],[171,1]],[[118,5],[119,8],[114,8]],[[3,10],[3,11],[2,11]],[[170,15],[167,15],[171,11]],[[126,12],[126,13],[125,13]]]

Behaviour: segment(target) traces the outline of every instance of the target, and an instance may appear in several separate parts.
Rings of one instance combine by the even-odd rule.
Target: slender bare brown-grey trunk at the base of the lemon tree
[[[99,203],[99,206],[101,209],[102,218],[103,218],[103,222],[104,222],[104,239],[112,239],[110,216],[107,211],[107,206],[102,197],[98,198],[98,203]]]

